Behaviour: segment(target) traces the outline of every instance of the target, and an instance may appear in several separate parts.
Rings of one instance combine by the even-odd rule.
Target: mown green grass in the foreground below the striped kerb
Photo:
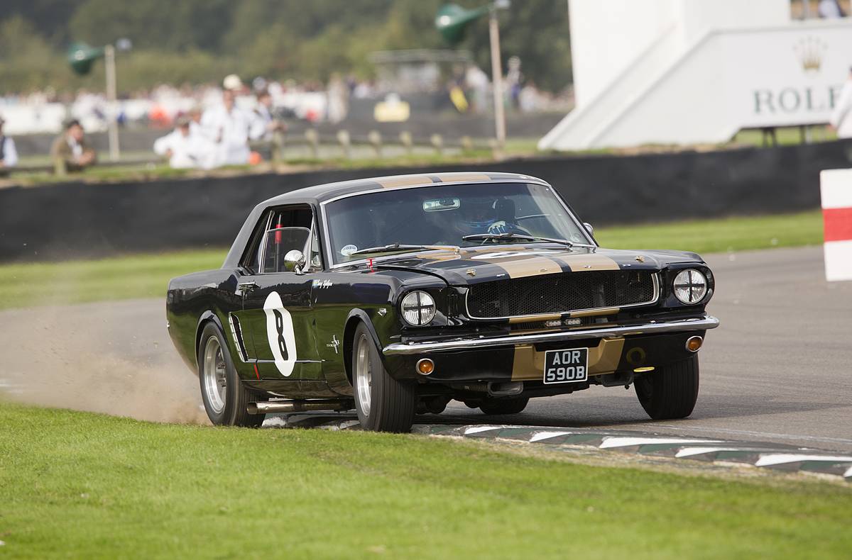
[[[848,557],[852,489],[0,403],[0,556]]]

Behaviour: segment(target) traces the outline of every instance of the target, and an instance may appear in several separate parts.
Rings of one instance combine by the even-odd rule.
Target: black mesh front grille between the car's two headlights
[[[581,271],[484,282],[468,290],[468,314],[493,319],[653,303],[654,274]]]

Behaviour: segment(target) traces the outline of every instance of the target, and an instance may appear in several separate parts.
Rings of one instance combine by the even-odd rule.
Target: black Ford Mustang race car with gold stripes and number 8
[[[456,173],[271,198],[222,268],[170,282],[167,311],[214,424],[354,408],[408,431],[452,399],[514,414],[590,385],[688,416],[712,293],[697,254],[599,248],[543,180]]]

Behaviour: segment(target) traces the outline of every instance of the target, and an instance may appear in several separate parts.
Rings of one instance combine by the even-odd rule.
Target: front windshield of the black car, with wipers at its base
[[[525,183],[435,185],[389,189],[325,205],[334,264],[370,257],[364,249],[385,245],[529,243],[511,236],[591,243],[551,187]],[[493,234],[486,239],[463,237]],[[400,253],[412,248],[399,248]],[[393,249],[391,249],[393,251]],[[357,253],[357,254],[355,254]],[[376,251],[375,254],[388,254]]]

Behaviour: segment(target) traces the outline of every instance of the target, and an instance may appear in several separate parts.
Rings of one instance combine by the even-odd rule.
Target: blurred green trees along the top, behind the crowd
[[[486,0],[457,0],[475,7]],[[0,93],[102,88],[102,65],[75,77],[63,53],[72,40],[92,45],[128,37],[119,89],[157,83],[219,82],[235,72],[250,79],[325,82],[334,73],[369,78],[367,54],[386,49],[445,49],[434,19],[444,0],[4,0],[0,14]],[[558,91],[571,81],[567,7],[524,0],[501,12],[504,68],[521,57],[538,87]],[[488,74],[486,21],[459,46]]]

